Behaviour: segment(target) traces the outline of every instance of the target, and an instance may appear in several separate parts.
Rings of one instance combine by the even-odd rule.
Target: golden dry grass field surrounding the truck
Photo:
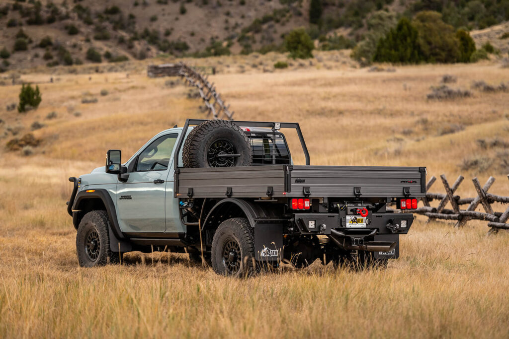
[[[460,194],[473,196],[470,179],[489,175],[497,179],[490,192],[509,195],[509,96],[426,95],[444,74],[458,78],[450,87],[470,89],[475,80],[507,82],[508,72],[485,63],[212,78],[236,119],[300,122],[312,164],[427,166],[451,181],[463,174]],[[204,114],[188,88],[143,71],[53,78],[22,76],[41,83],[43,98],[25,114],[5,110],[20,86],[0,87],[0,136],[44,125],[32,132],[42,141],[31,156],[7,151],[12,132],[0,140],[0,337],[509,336],[509,234],[487,237],[484,222],[458,230],[417,217],[386,270],[322,266],[236,280],[185,255],[139,253],[124,265],[79,268],[67,178],[102,166],[107,149],[128,157],[155,133]],[[296,136],[288,139],[302,163]]]

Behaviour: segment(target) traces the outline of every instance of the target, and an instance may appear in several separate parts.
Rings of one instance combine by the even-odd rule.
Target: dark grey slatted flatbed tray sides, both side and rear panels
[[[178,168],[180,198],[424,197],[425,167],[267,165]]]

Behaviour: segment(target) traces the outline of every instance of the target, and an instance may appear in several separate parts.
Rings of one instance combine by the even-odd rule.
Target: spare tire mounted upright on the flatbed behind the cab
[[[242,129],[228,120],[207,120],[184,142],[184,167],[250,166],[251,146]]]

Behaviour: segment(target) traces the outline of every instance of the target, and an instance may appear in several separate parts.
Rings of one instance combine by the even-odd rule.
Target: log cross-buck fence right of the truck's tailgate
[[[507,175],[509,179],[509,175]],[[495,182],[495,178],[490,176],[483,187],[480,186],[477,177],[472,179],[477,197],[475,198],[461,198],[459,195],[455,195],[458,187],[465,179],[462,175],[458,176],[458,179],[453,183],[451,187],[444,174],[440,175],[440,179],[445,189],[443,193],[429,193],[431,186],[437,180],[436,177],[432,176],[426,184],[426,197],[421,198],[424,206],[419,207],[415,210],[416,213],[426,215],[430,220],[443,219],[443,220],[457,220],[455,227],[464,226],[469,220],[486,220],[490,231],[488,234],[496,233],[500,229],[509,230],[509,207],[504,212],[495,212],[491,207],[494,202],[509,203],[509,197],[503,197],[495,194],[488,193],[488,190]],[[439,200],[437,207],[432,207],[430,201]],[[445,208],[447,204],[451,208]],[[484,212],[476,211],[475,209],[479,206],[483,207]],[[460,206],[468,205],[466,209],[461,209]]]

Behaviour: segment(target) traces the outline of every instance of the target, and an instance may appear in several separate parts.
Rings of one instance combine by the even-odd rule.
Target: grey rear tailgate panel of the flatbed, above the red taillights
[[[292,192],[289,197],[302,196],[309,188],[311,197],[355,198],[354,187],[360,197],[402,197],[409,188],[412,197],[423,197],[420,167],[380,166],[294,166]]]

